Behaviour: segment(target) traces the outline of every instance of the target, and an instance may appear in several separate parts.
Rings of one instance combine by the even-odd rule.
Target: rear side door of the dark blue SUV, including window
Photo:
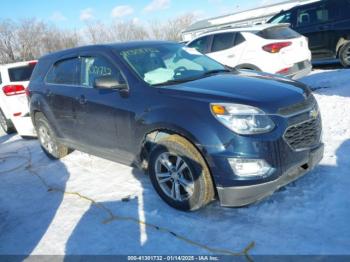
[[[78,55],[57,61],[48,72],[44,95],[54,116],[58,135],[67,140],[78,139],[74,130],[76,122],[76,97],[79,94],[80,60]]]

